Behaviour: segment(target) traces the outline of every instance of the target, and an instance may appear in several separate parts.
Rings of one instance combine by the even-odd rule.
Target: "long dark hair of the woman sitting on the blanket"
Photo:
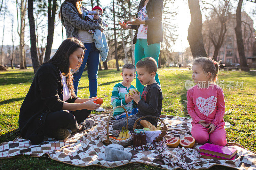
[[[81,41],[73,37],[67,38],[60,44],[60,47],[57,49],[56,53],[53,55],[51,60],[47,62],[56,65],[60,69],[61,73],[63,73],[64,76],[67,76],[67,86],[73,97],[76,97],[76,94],[74,92],[71,69],[69,68],[69,56],[78,48],[82,48],[85,51],[84,44]],[[82,61],[83,59],[84,53],[82,56]],[[77,67],[76,70],[79,67]],[[73,72],[75,73],[76,70],[74,70]]]

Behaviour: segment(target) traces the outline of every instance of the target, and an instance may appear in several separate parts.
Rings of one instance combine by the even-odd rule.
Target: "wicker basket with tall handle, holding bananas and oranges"
[[[120,145],[125,147],[125,146],[128,146],[132,142],[132,139],[133,139],[133,133],[132,132],[131,132],[131,136],[128,139],[125,139],[125,140],[115,140],[115,139],[109,138],[109,134],[118,136],[121,132],[121,130],[111,130],[111,131],[109,131],[109,120],[111,118],[111,115],[114,113],[114,110],[118,107],[122,107],[124,109],[125,113],[126,113],[126,120],[127,120],[126,121],[126,129],[128,128],[128,113],[127,113],[126,109],[123,106],[117,106],[109,114],[108,123],[107,123],[107,133],[103,134],[100,137],[100,140],[105,145],[109,145],[109,144],[113,143],[113,144],[120,144]]]

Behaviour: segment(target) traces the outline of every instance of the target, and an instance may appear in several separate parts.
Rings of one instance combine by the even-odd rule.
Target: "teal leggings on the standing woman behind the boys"
[[[136,63],[138,63],[138,61],[140,61],[142,58],[145,58],[145,57],[154,58],[156,60],[156,63],[158,64],[160,50],[161,50],[160,42],[148,45],[147,39],[141,39],[141,38],[137,39],[135,44],[135,49],[134,49],[135,65]],[[137,77],[138,77],[138,73],[136,72],[136,88],[138,89],[140,94],[142,94],[144,86],[141,85]],[[155,79],[156,79],[156,82],[160,85],[157,72],[156,72]]]

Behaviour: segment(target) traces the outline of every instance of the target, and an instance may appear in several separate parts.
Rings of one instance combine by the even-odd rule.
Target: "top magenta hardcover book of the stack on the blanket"
[[[236,149],[208,143],[200,146],[199,151],[228,159],[231,159],[237,153]]]

